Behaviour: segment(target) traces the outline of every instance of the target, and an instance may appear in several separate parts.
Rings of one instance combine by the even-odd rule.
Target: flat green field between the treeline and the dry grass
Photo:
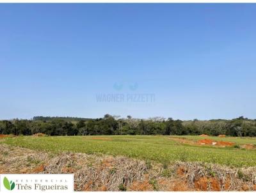
[[[199,136],[185,137],[192,141],[205,139]],[[216,141],[229,141],[236,144],[256,144],[252,137],[210,137]],[[80,153],[102,153],[107,155],[125,155],[127,157],[154,160],[156,162],[200,161],[228,166],[256,166],[256,150],[234,147],[196,146],[182,144],[170,136],[147,135],[111,135],[111,136],[61,136],[61,137],[7,137],[0,144],[20,146],[33,150],[49,150],[54,153],[72,151]]]

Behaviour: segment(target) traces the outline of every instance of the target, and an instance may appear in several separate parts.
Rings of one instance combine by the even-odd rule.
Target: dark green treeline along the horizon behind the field
[[[256,120],[248,120],[243,116],[233,120],[181,121],[160,117],[140,120],[131,116],[120,118],[106,114],[98,119],[77,119],[36,117],[33,120],[2,120],[0,134],[256,136]]]

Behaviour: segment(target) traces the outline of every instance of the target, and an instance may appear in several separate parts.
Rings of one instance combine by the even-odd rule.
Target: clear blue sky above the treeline
[[[0,4],[0,119],[256,118],[255,23],[256,4]]]

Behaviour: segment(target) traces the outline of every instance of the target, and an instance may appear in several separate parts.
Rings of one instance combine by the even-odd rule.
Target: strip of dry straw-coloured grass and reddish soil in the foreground
[[[0,144],[0,173],[74,173],[75,190],[256,190],[256,167],[163,165],[127,157],[52,154]]]

